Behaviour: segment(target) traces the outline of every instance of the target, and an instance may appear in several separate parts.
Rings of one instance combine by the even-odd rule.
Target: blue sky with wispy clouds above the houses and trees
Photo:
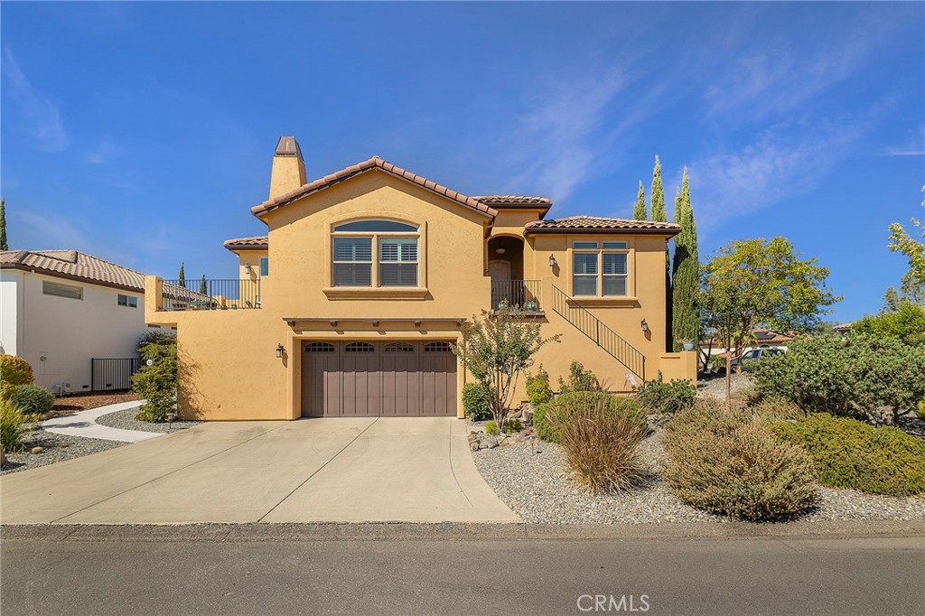
[[[468,194],[630,216],[690,169],[701,255],[783,235],[833,320],[906,271],[921,216],[925,4],[0,6],[11,248],[235,276],[280,134],[310,179],[379,154]],[[671,207],[671,204],[670,204]]]

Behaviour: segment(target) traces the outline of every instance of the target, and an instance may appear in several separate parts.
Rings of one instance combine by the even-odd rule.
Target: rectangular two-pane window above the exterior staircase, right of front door
[[[626,241],[573,241],[572,291],[575,297],[629,294]]]

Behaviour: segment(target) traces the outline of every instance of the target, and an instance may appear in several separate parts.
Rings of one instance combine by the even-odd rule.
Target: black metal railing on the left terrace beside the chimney
[[[260,278],[164,280],[161,310],[238,310],[260,308]]]

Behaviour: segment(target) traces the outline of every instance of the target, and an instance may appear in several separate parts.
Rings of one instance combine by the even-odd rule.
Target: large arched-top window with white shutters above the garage
[[[338,225],[333,230],[334,286],[417,287],[419,239],[417,227],[394,220]]]

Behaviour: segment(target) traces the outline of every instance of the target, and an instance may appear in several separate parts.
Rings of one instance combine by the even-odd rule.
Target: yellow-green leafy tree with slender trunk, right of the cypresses
[[[809,332],[820,326],[825,306],[842,298],[825,286],[829,269],[817,259],[800,259],[784,238],[734,240],[701,273],[704,326],[726,348],[726,402],[732,359],[739,359],[756,326]],[[739,368],[741,370],[741,367]]]

